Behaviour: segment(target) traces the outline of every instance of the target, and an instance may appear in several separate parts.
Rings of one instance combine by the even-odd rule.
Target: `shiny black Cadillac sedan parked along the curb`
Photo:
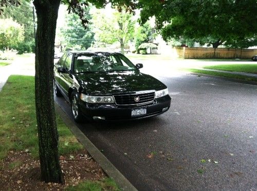
[[[126,120],[169,110],[167,86],[140,73],[120,53],[66,52],[54,66],[54,91],[71,103],[75,121]]]

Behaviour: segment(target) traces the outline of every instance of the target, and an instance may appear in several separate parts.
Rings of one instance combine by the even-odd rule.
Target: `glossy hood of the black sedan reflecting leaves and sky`
[[[139,71],[85,73],[76,74],[76,78],[87,95],[158,91],[167,88],[156,78]]]

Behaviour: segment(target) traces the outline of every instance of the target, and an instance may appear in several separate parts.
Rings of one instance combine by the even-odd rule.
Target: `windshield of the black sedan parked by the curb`
[[[122,54],[84,53],[75,56],[74,72],[111,72],[137,70]]]

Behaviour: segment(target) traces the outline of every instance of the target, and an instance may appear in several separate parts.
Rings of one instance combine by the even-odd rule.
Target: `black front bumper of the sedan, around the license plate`
[[[153,103],[140,106],[119,106],[116,104],[90,104],[80,101],[80,110],[90,119],[102,117],[104,120],[133,120],[160,115],[169,110],[171,97],[169,95],[155,99]],[[146,109],[146,114],[133,116],[133,109]]]

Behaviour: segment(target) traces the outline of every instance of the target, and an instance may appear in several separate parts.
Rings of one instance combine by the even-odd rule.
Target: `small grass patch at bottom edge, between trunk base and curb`
[[[66,188],[67,191],[77,191],[77,190],[90,190],[90,191],[101,191],[101,190],[120,190],[117,184],[111,178],[106,178],[102,181],[83,181],[76,186],[69,186]]]

